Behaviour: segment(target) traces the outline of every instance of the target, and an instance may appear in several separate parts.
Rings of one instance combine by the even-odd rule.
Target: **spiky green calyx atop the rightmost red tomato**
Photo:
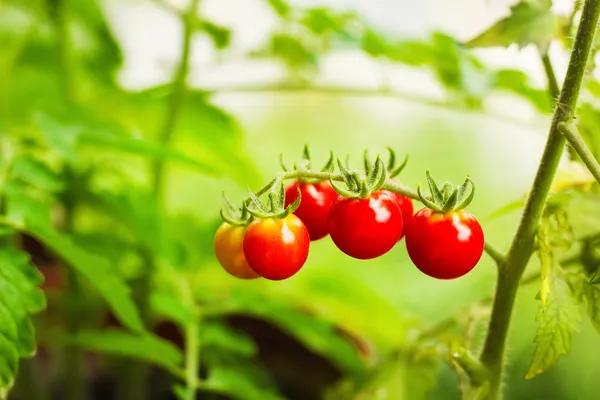
[[[423,196],[421,193],[421,186],[417,186],[419,200],[426,207],[434,211],[447,213],[462,210],[473,201],[473,198],[475,197],[475,184],[468,175],[462,184],[455,186],[446,182],[441,189],[431,177],[429,170],[426,171],[426,175],[431,200]],[[469,186],[471,186],[471,190],[467,193]]]

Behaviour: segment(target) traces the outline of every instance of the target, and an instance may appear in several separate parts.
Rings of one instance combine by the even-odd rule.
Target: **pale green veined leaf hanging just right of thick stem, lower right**
[[[544,225],[540,229],[542,235],[547,237],[547,233],[544,233],[546,230]],[[549,239],[542,240],[541,246],[547,245],[547,240]],[[544,252],[547,252],[547,249]],[[571,347],[572,332],[578,329],[580,322],[579,310],[558,266],[549,262],[542,268],[546,270],[543,274],[545,281],[543,286],[547,287],[544,296],[546,301],[545,306],[542,303],[538,312],[539,327],[535,336],[536,347],[525,379],[532,379],[545,372],[556,363],[561,355],[568,353]]]

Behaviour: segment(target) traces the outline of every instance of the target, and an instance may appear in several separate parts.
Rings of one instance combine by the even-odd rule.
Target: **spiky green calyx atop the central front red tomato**
[[[331,178],[329,182],[340,196],[366,199],[371,193],[378,191],[385,184],[387,170],[379,155],[373,165],[366,166],[364,174],[344,166],[339,158],[337,159],[337,164],[348,189],[342,188]]]

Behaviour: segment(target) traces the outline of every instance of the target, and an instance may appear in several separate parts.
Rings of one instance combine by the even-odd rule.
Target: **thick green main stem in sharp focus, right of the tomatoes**
[[[490,391],[486,396],[487,400],[501,398],[504,348],[517,287],[531,257],[535,232],[563,153],[565,138],[559,131],[559,124],[567,122],[572,117],[577,105],[599,15],[600,0],[587,0],[583,7],[574,49],[571,53],[542,160],[510,247],[506,267],[498,276],[492,315],[480,357],[481,362],[490,372]]]

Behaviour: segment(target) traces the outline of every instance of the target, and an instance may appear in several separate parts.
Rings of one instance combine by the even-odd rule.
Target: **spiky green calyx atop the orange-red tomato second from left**
[[[296,201],[285,207],[285,186],[280,180],[276,180],[269,190],[267,196],[268,200],[265,204],[260,198],[248,189],[248,196],[250,203],[244,202],[244,209],[253,217],[259,219],[276,218],[283,219],[288,215],[292,214],[300,206],[302,200],[302,193],[298,189],[298,197]]]

